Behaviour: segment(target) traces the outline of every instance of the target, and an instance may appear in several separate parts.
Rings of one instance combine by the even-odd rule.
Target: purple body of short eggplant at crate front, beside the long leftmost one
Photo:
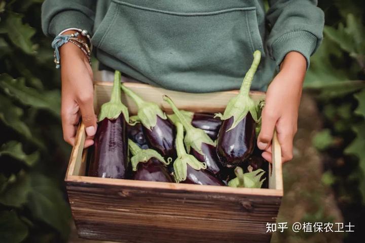
[[[157,159],[151,158],[145,163],[139,163],[137,171],[133,172],[133,180],[173,182],[167,168]]]

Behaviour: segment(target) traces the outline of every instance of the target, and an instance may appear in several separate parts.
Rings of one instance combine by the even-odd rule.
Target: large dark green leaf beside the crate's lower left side
[[[70,210],[62,192],[50,178],[42,174],[32,173],[30,179],[31,191],[27,207],[31,214],[66,238],[69,233]]]

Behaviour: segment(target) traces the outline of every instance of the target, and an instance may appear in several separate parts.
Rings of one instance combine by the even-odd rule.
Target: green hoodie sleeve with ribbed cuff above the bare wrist
[[[323,38],[324,14],[317,0],[269,0],[266,19],[271,27],[267,39],[270,57],[277,67],[288,52],[296,51],[307,59]]]

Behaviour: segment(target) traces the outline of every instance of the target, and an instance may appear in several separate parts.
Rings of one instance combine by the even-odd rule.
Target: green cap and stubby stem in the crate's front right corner
[[[247,187],[247,188],[261,188],[266,178],[262,179],[265,171],[258,169],[253,171],[251,166],[248,167],[248,172],[243,173],[243,169],[239,166],[235,168],[236,178],[228,182],[231,187]]]

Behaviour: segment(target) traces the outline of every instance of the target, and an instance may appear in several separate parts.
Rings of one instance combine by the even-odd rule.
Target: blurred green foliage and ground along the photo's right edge
[[[319,1],[324,38],[311,58],[305,88],[315,95],[323,130],[313,145],[324,156],[322,182],[335,189],[344,220],[365,227],[365,2]]]

